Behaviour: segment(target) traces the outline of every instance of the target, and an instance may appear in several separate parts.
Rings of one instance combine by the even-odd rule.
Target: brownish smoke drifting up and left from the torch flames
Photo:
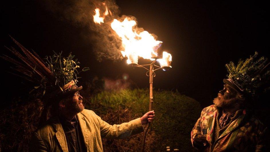
[[[83,31],[83,38],[86,43],[92,44],[97,60],[122,59],[121,50],[122,41],[120,37],[111,29],[110,23],[114,18],[121,19],[125,16],[119,17],[119,9],[113,0],[99,1],[99,0],[42,0],[48,11],[52,12],[60,20],[68,21],[71,24],[86,29]],[[101,25],[93,22],[93,15],[95,15],[95,8],[99,8],[101,12],[105,11],[105,3],[111,13],[105,17],[104,23]]]

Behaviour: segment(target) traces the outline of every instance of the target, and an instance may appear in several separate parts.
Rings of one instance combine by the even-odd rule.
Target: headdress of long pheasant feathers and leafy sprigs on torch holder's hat
[[[73,59],[74,55],[69,53],[68,57],[62,57],[61,53],[54,52],[52,56],[46,56],[44,62],[34,50],[31,53],[14,38],[11,37],[11,39],[21,51],[17,51],[13,47],[6,48],[19,60],[7,55],[3,55],[1,58],[15,65],[12,68],[14,72],[10,73],[31,81],[35,85],[38,84],[30,92],[39,89],[43,91],[42,94],[47,98],[63,98],[67,93],[73,93],[82,88],[76,85],[77,79],[80,78],[77,75],[80,72],[77,71],[79,62],[77,62],[77,59]],[[85,67],[82,71],[87,70],[89,68]]]

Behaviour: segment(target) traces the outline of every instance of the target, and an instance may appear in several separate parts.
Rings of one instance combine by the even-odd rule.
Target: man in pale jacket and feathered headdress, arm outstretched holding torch
[[[101,138],[124,139],[144,131],[144,124],[154,120],[154,111],[141,118],[119,125],[110,125],[92,110],[84,109],[83,97],[77,86],[79,62],[74,55],[62,53],[46,56],[46,61],[31,53],[12,38],[21,51],[7,48],[20,60],[9,56],[3,59],[15,64],[14,74],[35,84],[31,92],[40,96],[43,111],[40,127],[33,133],[30,151],[84,152],[103,151]],[[23,52],[23,53],[21,53]],[[87,71],[85,67],[82,71]],[[81,72],[82,72],[81,71]]]

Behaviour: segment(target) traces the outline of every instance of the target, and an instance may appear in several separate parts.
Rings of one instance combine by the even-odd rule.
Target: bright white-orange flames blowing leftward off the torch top
[[[105,3],[102,4],[105,5]],[[94,22],[97,24],[101,24],[101,22],[104,23],[105,16],[108,15],[109,12],[111,14],[111,11],[108,11],[107,6],[102,17],[100,17],[98,8],[95,9],[95,12],[96,14],[93,15],[93,17]],[[128,58],[128,64],[138,64],[139,57],[150,59],[152,61],[155,60],[154,58],[158,56],[157,50],[162,42],[156,40],[154,36],[147,31],[139,32],[136,25],[136,22],[129,17],[126,17],[122,22],[114,19],[111,23],[111,28],[122,39],[122,46],[124,48],[124,50],[121,51],[122,55]],[[159,59],[159,61],[160,63],[165,62],[163,59]]]

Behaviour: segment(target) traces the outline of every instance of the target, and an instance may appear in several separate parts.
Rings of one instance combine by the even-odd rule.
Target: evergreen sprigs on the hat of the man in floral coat
[[[240,59],[238,64],[235,66],[233,62],[226,64],[228,71],[227,77],[232,79],[234,83],[240,86],[244,91],[255,96],[258,91],[266,91],[269,88],[264,87],[265,84],[269,83],[269,70],[261,73],[265,65],[267,64],[267,58],[260,57],[257,61],[258,52],[255,52],[253,56],[243,61]]]

